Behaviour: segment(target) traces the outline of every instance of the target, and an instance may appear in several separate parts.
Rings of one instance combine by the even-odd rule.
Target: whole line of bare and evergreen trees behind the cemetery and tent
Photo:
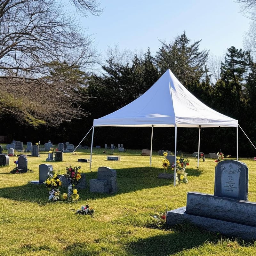
[[[61,1],[60,1],[61,2]],[[240,4],[246,4],[241,0]],[[81,15],[100,15],[95,0],[75,1]],[[253,1],[254,4],[254,1]],[[98,59],[92,40],[65,5],[54,0],[4,0],[0,3],[0,118],[2,135],[21,141],[77,144],[105,116],[138,98],[170,68],[199,100],[235,118],[252,142],[256,104],[256,63],[253,48],[230,46],[221,62],[210,61],[185,31],[172,42],[160,41],[152,54],[109,49],[100,73],[91,72]],[[65,14],[64,14],[65,13]],[[4,124],[4,125],[3,125]],[[95,145],[123,143],[149,148],[150,128],[97,127]],[[178,149],[197,150],[198,129],[178,129]],[[89,135],[82,145],[90,146]],[[154,129],[153,149],[174,150],[174,128]],[[203,128],[201,151],[236,154],[235,128]],[[239,131],[239,155],[255,149]]]

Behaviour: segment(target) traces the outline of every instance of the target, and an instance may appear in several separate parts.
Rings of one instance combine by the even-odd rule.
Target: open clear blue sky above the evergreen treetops
[[[78,17],[103,57],[115,44],[121,51],[150,47],[154,55],[159,40],[170,42],[184,30],[191,42],[202,39],[200,50],[221,56],[232,45],[243,48],[249,28],[249,19],[231,0],[101,0],[101,6],[100,17]]]

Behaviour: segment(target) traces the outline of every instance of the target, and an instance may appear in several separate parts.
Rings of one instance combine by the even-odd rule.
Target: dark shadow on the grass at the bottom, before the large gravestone
[[[157,236],[139,238],[128,244],[128,251],[136,256],[167,256],[191,248],[199,247],[205,242],[216,242],[218,237],[208,231],[202,233],[199,229],[166,231]]]

